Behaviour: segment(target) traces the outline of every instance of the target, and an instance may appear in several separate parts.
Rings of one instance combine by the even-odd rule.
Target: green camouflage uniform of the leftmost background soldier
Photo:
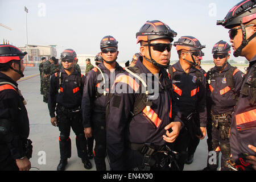
[[[51,63],[47,60],[43,66],[42,87],[43,87],[43,102],[48,102],[49,98],[49,79],[51,76]]]

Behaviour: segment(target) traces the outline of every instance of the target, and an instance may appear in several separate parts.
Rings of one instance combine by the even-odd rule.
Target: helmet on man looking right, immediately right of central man
[[[187,51],[200,51],[205,48],[205,46],[202,46],[199,40],[193,36],[181,36],[179,40],[174,42],[174,46],[177,51],[181,49],[185,49]]]

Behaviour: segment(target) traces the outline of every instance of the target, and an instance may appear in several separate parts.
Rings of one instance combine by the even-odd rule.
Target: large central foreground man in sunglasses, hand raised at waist
[[[166,72],[174,36],[159,20],[144,23],[136,34],[142,56],[115,78],[107,121],[113,170],[170,170],[173,156],[167,142],[174,142],[182,126]]]

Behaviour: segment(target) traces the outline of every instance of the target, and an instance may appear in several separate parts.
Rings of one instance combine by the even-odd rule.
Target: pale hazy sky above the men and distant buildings
[[[56,44],[57,57],[63,49],[77,54],[96,55],[106,35],[118,40],[118,61],[131,60],[139,52],[136,33],[147,20],[160,20],[181,36],[199,39],[205,56],[212,60],[212,47],[220,40],[229,43],[228,29],[216,26],[240,0],[0,0],[0,43],[3,39],[17,47],[26,46],[26,13],[28,44]],[[245,60],[234,57],[230,59]],[[178,60],[175,47],[171,60]]]

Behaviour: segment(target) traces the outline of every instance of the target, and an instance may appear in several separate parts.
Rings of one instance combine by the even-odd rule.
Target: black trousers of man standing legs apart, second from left
[[[76,134],[77,155],[87,159],[87,142],[82,126],[81,111],[72,112],[65,109],[56,109],[57,121],[60,130],[60,158],[67,159],[71,157],[71,139],[69,138],[71,128]]]

